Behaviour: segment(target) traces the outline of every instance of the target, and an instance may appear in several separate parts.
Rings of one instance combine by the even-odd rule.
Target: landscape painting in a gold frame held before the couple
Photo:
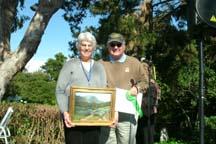
[[[69,113],[78,126],[109,126],[115,112],[115,88],[70,88]]]

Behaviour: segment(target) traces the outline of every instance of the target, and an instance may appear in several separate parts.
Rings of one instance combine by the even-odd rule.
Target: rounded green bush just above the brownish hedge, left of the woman
[[[28,73],[19,72],[8,85],[7,96],[19,95],[28,103],[56,104],[56,81],[42,71]]]

